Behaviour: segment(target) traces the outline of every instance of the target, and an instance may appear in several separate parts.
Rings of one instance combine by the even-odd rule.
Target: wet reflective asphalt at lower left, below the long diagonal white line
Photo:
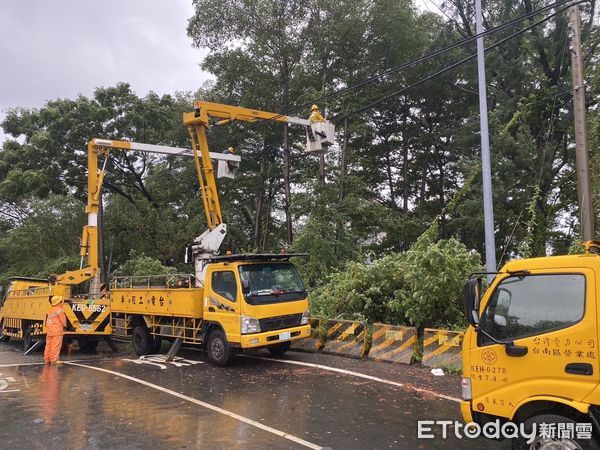
[[[66,364],[8,369],[7,389],[21,390],[0,394],[3,448],[282,448],[277,436],[115,376]]]

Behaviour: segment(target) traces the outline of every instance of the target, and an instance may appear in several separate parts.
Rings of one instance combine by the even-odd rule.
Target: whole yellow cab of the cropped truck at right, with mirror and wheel
[[[586,437],[598,439],[600,256],[586,247],[585,255],[511,261],[482,298],[481,278],[467,283],[464,420],[573,431],[538,435],[533,444],[519,438],[517,448],[587,448]],[[581,430],[587,436],[578,441]]]

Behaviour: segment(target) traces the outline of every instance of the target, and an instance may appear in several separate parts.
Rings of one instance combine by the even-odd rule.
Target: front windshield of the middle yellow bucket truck
[[[239,271],[246,302],[251,305],[306,298],[306,290],[293,264],[247,264],[239,266]]]

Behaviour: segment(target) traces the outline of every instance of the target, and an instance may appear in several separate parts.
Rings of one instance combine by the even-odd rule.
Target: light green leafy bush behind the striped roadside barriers
[[[480,257],[432,234],[406,252],[350,262],[312,293],[313,313],[417,327],[463,324],[464,283],[480,268]]]

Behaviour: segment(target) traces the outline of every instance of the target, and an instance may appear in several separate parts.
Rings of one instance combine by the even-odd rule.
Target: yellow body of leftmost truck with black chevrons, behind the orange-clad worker
[[[30,349],[46,334],[46,316],[52,309],[50,298],[60,295],[65,299],[66,334],[77,337],[80,349],[95,349],[98,337],[112,331],[109,300],[79,297],[72,295],[71,290],[69,285],[51,284],[39,278],[11,278],[0,304],[0,341],[22,339],[24,349]]]

